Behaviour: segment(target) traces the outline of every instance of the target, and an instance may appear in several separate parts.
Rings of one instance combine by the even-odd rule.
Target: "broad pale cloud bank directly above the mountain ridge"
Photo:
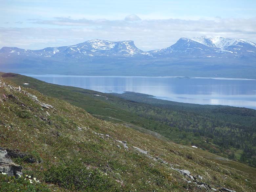
[[[150,19],[129,22],[107,19],[72,19],[56,17],[52,20],[30,20],[33,28],[0,28],[3,46],[26,49],[74,45],[99,38],[112,41],[134,40],[144,51],[169,47],[179,38],[220,35],[256,42],[256,18],[233,19],[216,17],[211,20]],[[132,21],[132,22],[131,22]],[[11,38],[10,38],[11,37]]]

